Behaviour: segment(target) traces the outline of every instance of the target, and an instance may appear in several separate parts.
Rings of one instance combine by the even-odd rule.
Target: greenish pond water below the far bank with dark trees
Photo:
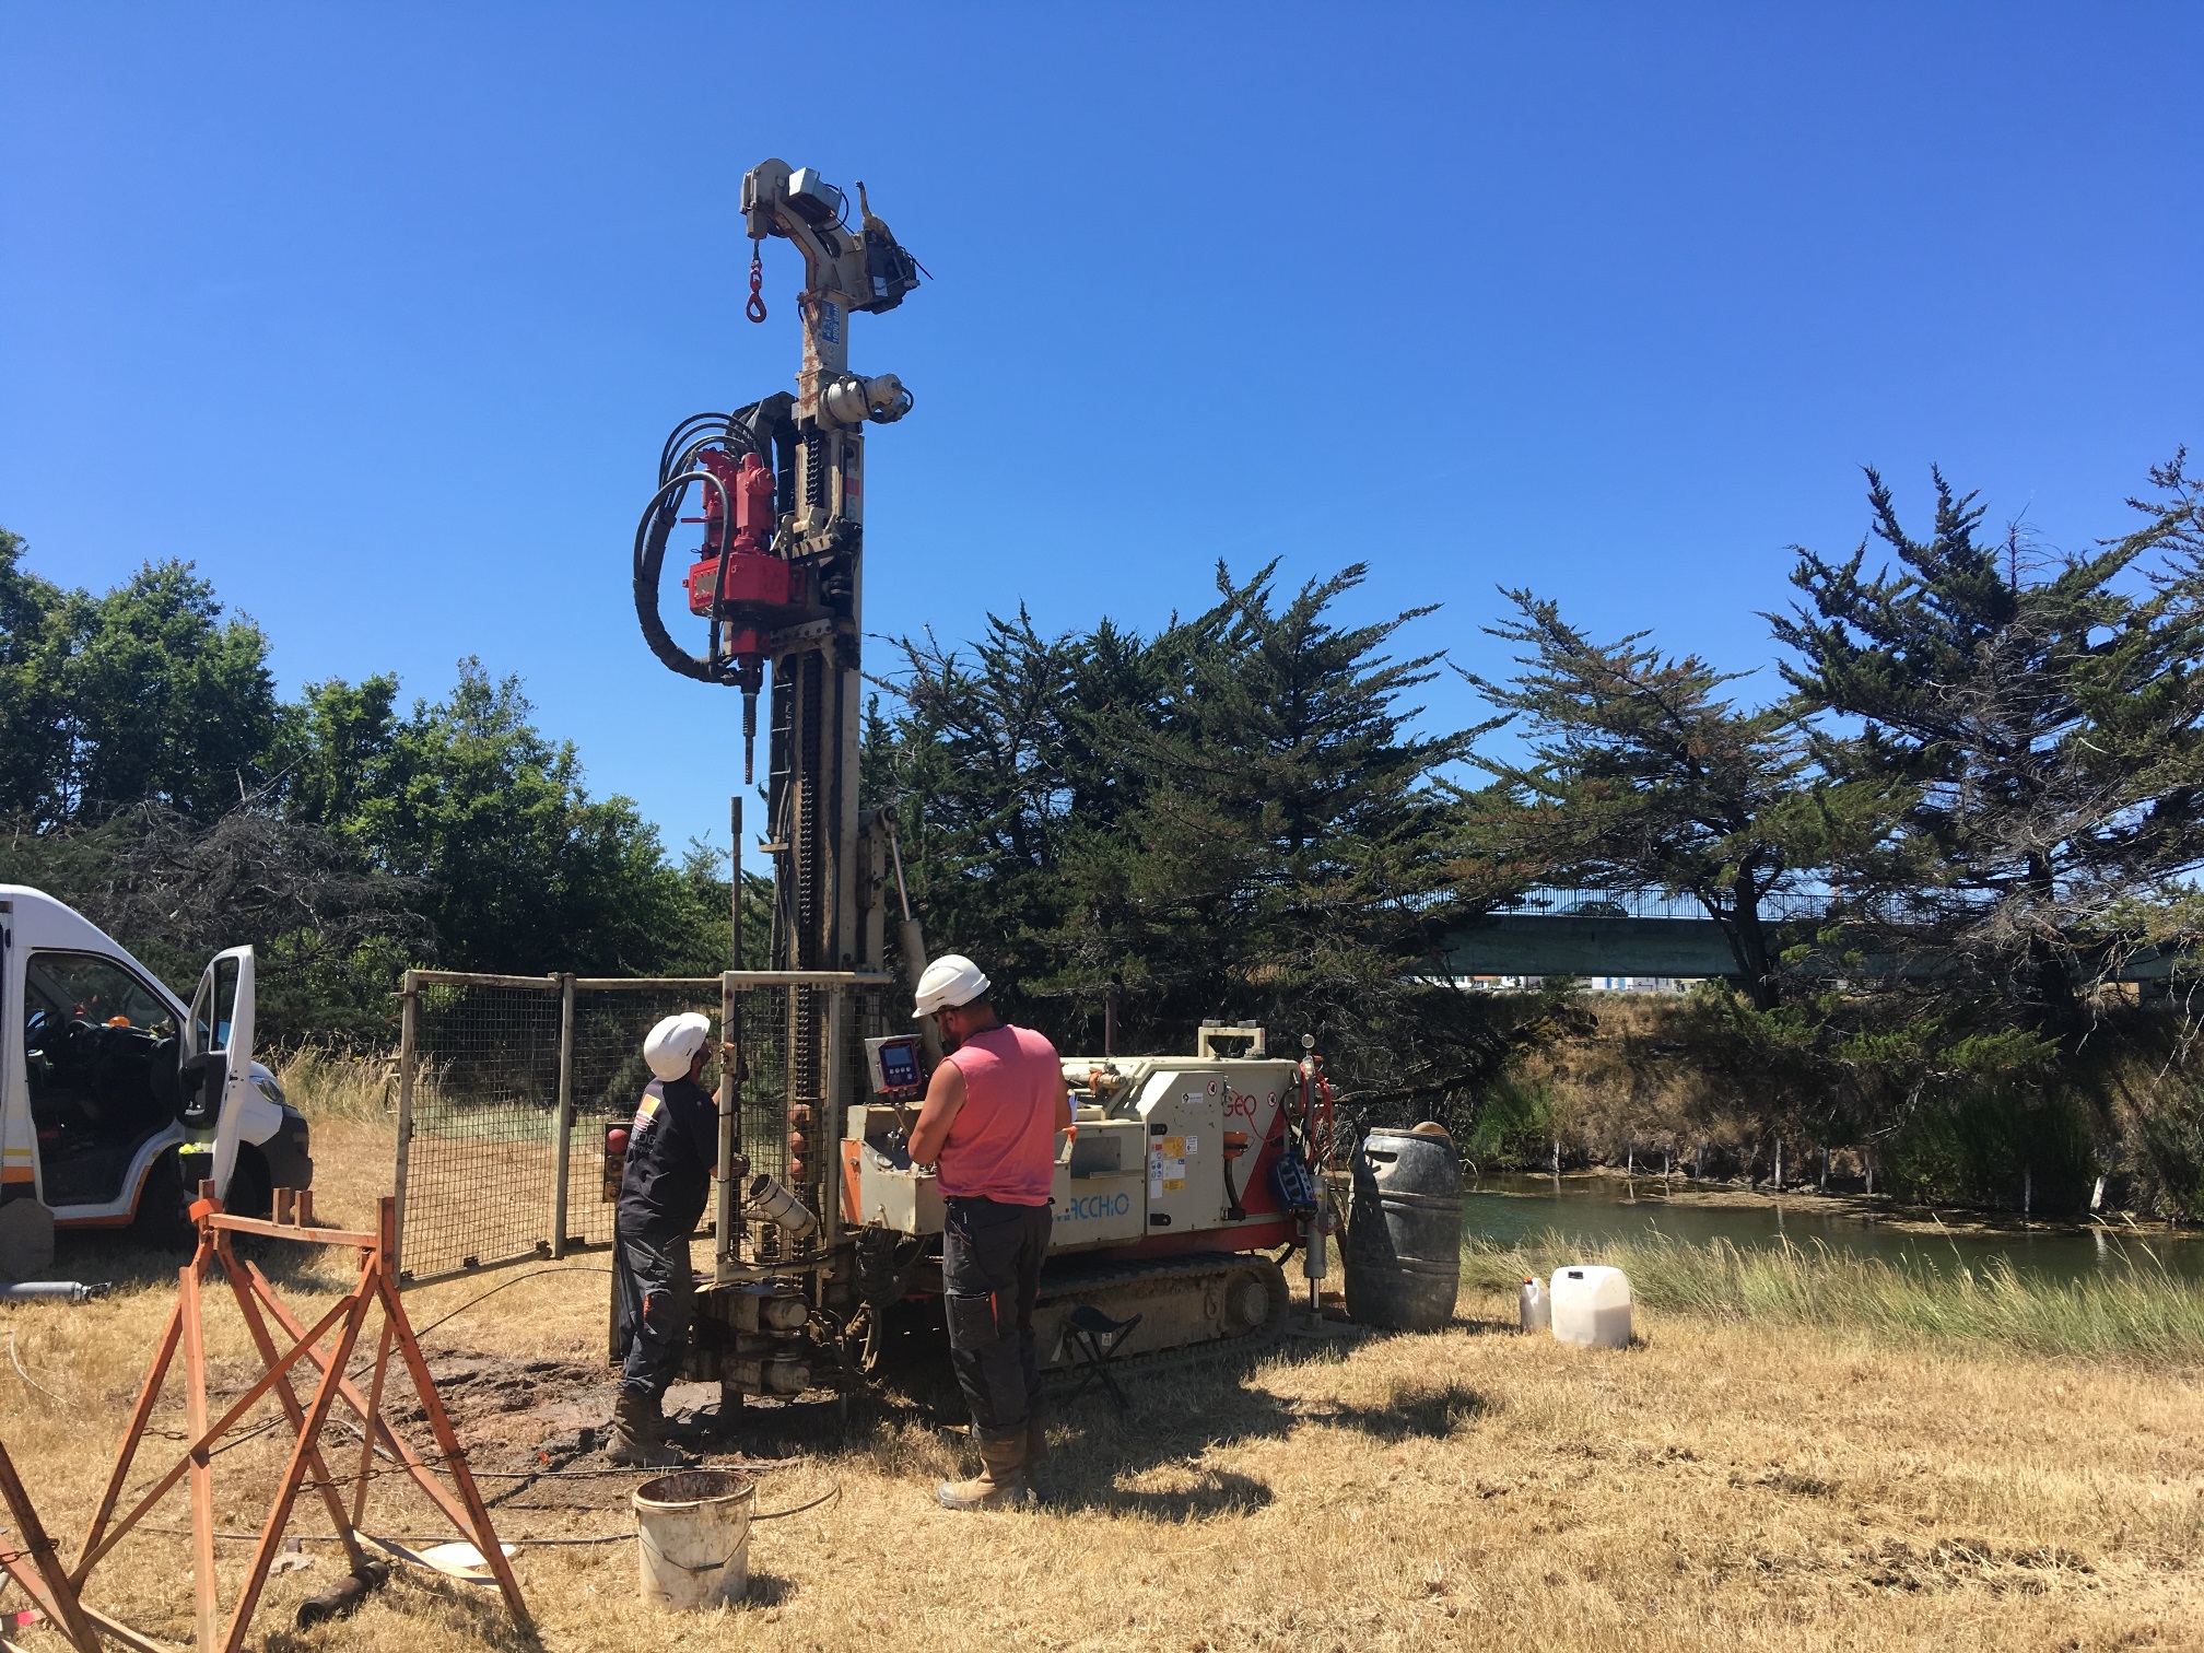
[[[1686,1184],[1679,1179],[1675,1190]],[[1470,1184],[1461,1199],[1461,1232],[1490,1245],[1516,1245],[1549,1230],[1587,1243],[1633,1241],[1666,1234],[1673,1241],[1706,1243],[1726,1239],[1732,1245],[1776,1245],[1792,1241],[1812,1247],[1816,1241],[1834,1252],[1880,1256],[1884,1261],[1920,1261],[1942,1270],[1984,1267],[2008,1258],[2014,1270],[2052,1278],[2078,1278],[2129,1261],[2151,1265],[2156,1256],[2169,1272],[2204,1281],[2204,1239],[2167,1236],[2162,1232],[2122,1236],[2116,1230],[2036,1228],[1997,1232],[1917,1232],[1871,1217],[1847,1214],[1834,1201],[1816,1195],[1794,1199],[1737,1199],[1724,1203],[1686,1203],[1671,1199],[1660,1177],[1538,1177],[1488,1175]]]

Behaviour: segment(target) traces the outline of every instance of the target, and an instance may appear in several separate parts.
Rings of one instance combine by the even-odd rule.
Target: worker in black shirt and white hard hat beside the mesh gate
[[[719,1100],[696,1082],[710,1054],[712,1023],[696,1012],[668,1016],[644,1038],[657,1078],[628,1128],[628,1168],[613,1208],[613,1309],[624,1351],[613,1463],[688,1461],[663,1439],[659,1406],[688,1349],[688,1236],[719,1173]]]

